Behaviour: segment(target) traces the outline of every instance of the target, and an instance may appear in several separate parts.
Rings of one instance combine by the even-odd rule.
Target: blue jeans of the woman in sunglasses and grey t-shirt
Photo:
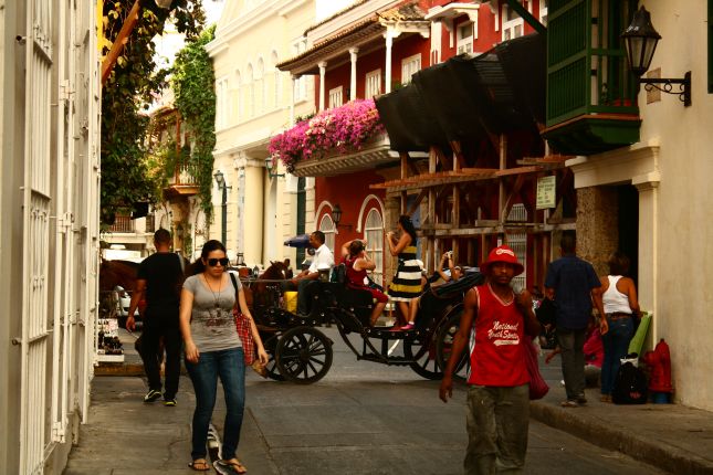
[[[221,457],[233,458],[240,442],[240,429],[245,408],[245,363],[242,348],[201,352],[197,363],[186,361],[186,369],[196,392],[190,453],[192,460],[206,458],[206,441],[216,405],[219,377],[228,410],[223,425]]]

